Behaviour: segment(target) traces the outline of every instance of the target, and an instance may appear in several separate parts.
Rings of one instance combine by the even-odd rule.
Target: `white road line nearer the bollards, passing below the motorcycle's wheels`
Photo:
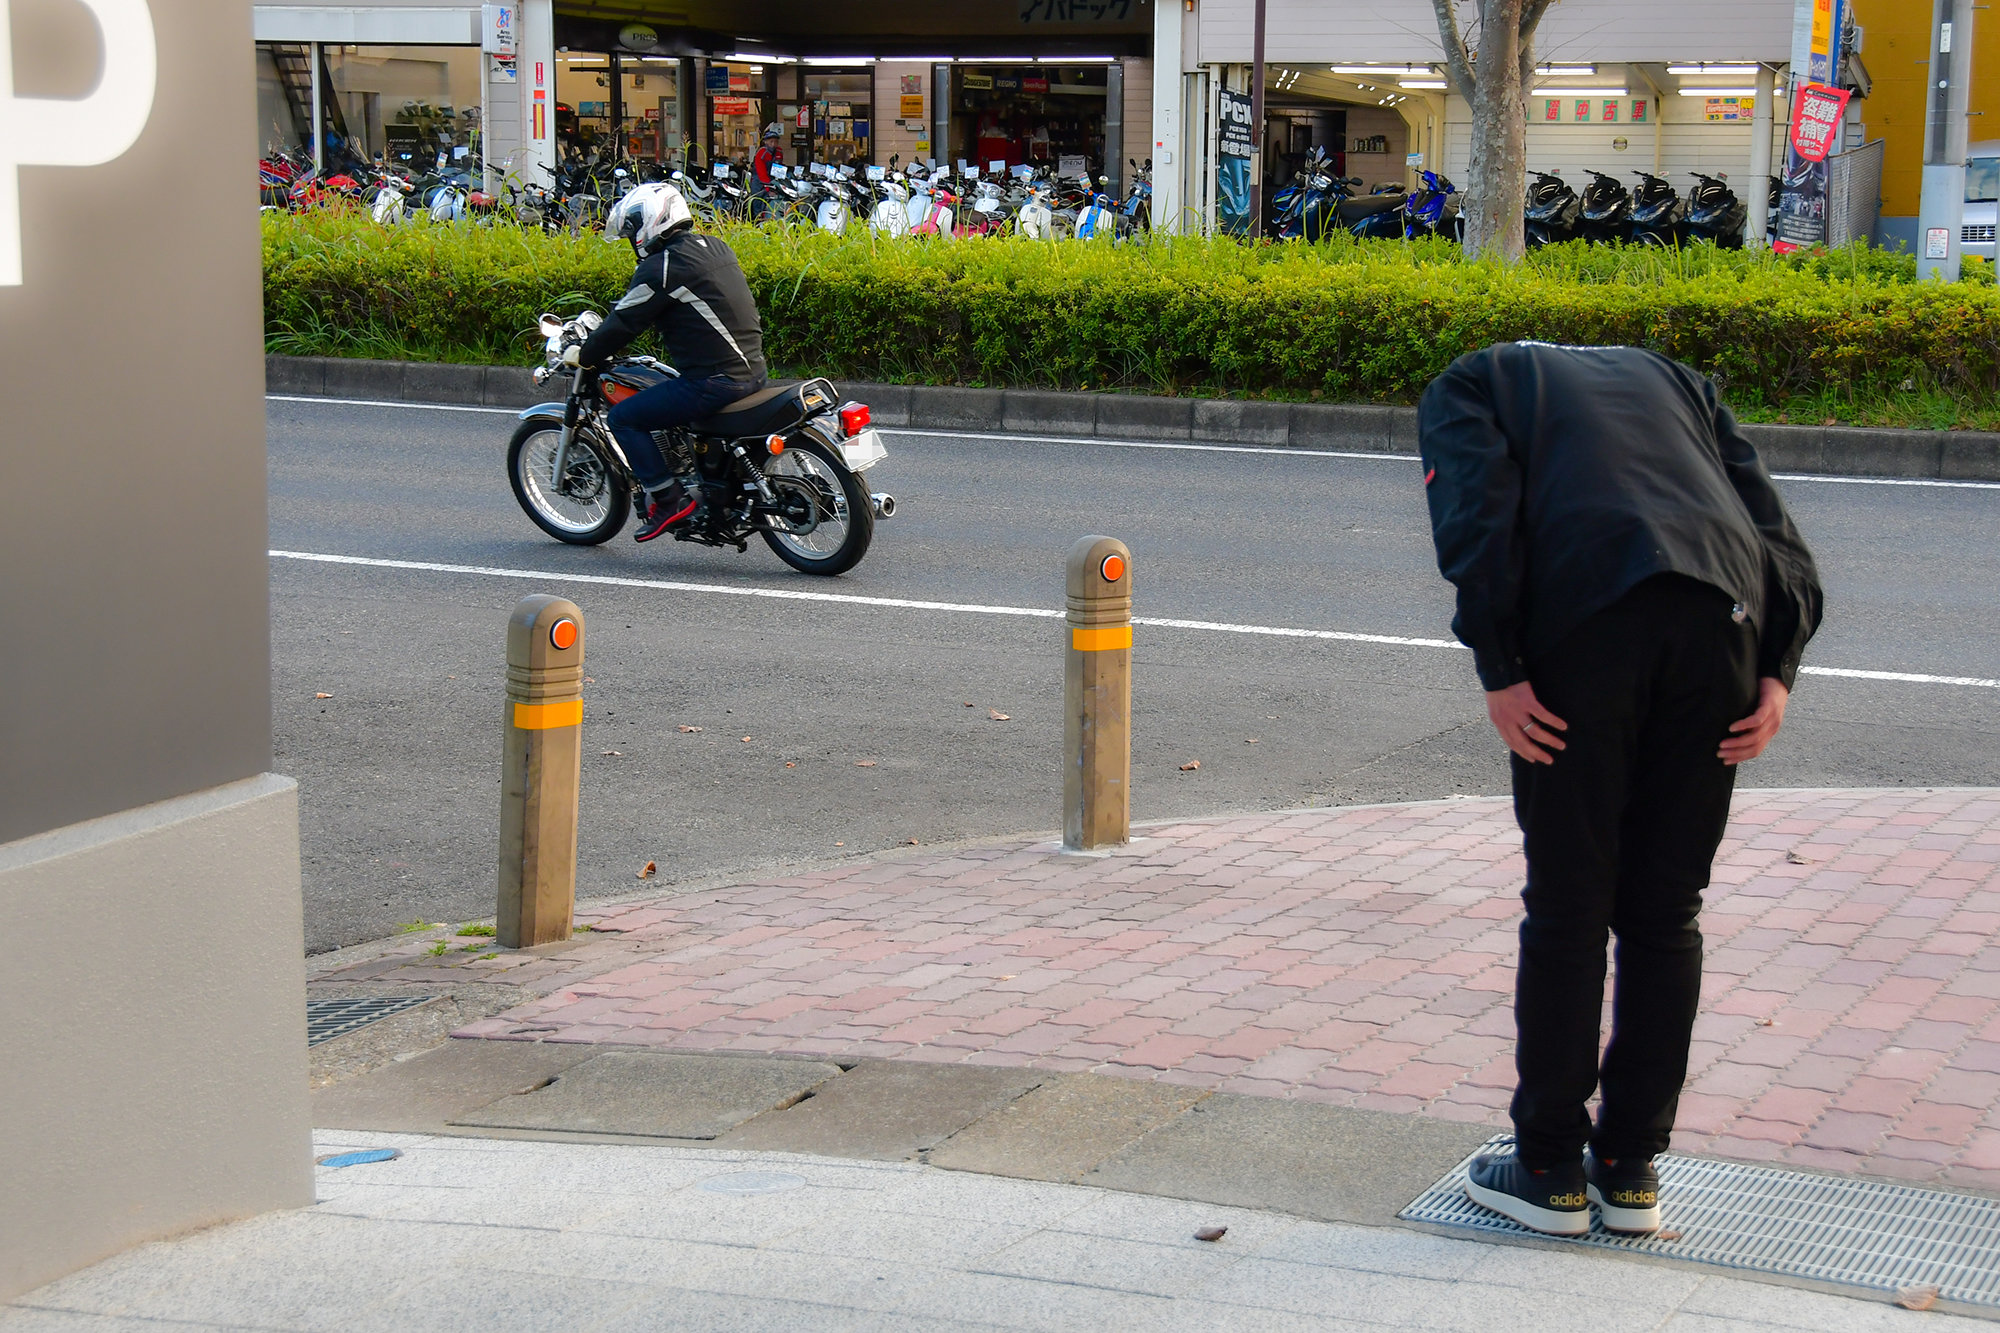
[[[274,560],[308,560],[314,564],[362,564],[368,568],[408,568],[426,574],[478,574],[484,578],[548,578],[568,582],[596,582],[614,588],[660,588],[666,592],[712,592],[722,596],[766,596],[782,602],[840,602],[848,606],[886,606],[892,610],[962,610],[980,616],[1030,616],[1036,620],[1056,620],[1060,610],[1042,606],[986,606],[980,602],[926,602],[908,596],[860,596],[854,592],[800,592],[790,588],[740,588],[722,582],[682,582],[676,578],[622,578],[616,574],[572,574],[544,568],[500,568],[492,564],[440,564],[436,560],[382,560],[376,556],[340,556],[318,550],[272,550]],[[1360,634],[1354,630],[1312,630],[1286,624],[1230,624],[1228,620],[1178,620],[1168,616],[1132,616],[1132,624],[1158,628],[1206,630],[1212,634],[1262,634],[1272,638],[1330,638],[1336,642],[1376,642],[1396,648],[1450,648],[1464,652],[1466,644],[1454,638],[1412,638],[1408,634]],[[1846,677],[1854,681],[1896,681],[1902,685],[1968,685],[1974,689],[2000,691],[2000,681],[1982,677],[1932,677],[1912,671],[1854,671],[1846,666],[1800,666],[1806,677]]]

